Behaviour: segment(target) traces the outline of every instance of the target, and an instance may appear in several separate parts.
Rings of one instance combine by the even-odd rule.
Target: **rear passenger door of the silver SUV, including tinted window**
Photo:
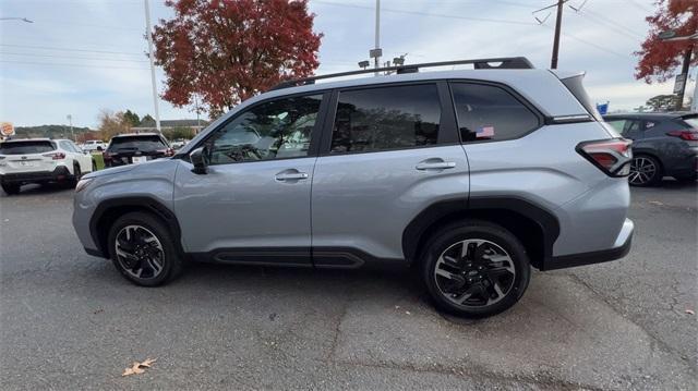
[[[429,205],[468,195],[446,83],[334,93],[312,194],[313,261],[401,260],[402,232]]]

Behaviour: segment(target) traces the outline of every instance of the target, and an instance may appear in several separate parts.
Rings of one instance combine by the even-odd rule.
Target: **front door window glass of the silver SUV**
[[[308,156],[322,95],[257,105],[204,142],[210,164]]]

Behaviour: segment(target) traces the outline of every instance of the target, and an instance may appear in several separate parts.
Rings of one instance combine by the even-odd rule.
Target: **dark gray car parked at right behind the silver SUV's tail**
[[[631,185],[655,185],[662,176],[696,181],[698,113],[610,114],[604,120],[633,139]]]

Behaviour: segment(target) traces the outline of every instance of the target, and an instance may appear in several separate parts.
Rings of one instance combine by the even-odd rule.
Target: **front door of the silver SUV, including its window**
[[[261,102],[205,138],[207,173],[177,170],[188,252],[219,261],[311,265],[310,194],[322,95]]]

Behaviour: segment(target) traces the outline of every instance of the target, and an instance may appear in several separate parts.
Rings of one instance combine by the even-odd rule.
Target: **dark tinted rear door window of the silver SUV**
[[[340,91],[332,154],[435,145],[441,102],[435,84]]]

